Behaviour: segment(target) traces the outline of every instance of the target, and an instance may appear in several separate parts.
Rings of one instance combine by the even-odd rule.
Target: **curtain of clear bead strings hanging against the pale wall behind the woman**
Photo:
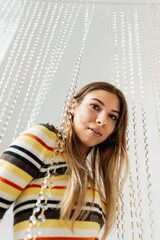
[[[114,84],[129,107],[130,171],[107,239],[159,240],[160,1],[1,0],[0,19],[1,151],[56,122],[77,85]]]

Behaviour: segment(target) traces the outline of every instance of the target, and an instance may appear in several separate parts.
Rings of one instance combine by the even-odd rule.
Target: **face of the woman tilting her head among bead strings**
[[[83,153],[108,138],[115,128],[119,114],[119,98],[106,90],[89,92],[80,104],[75,104],[73,127]]]

